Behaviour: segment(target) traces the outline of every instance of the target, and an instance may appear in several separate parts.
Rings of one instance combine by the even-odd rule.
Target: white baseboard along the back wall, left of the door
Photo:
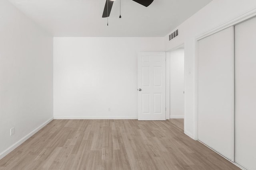
[[[82,117],[72,117],[72,116],[54,116],[54,119],[138,119],[138,116],[133,117],[90,117],[90,116],[82,116]]]

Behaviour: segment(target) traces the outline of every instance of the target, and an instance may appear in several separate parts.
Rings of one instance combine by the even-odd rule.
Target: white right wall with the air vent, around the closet
[[[184,43],[185,46],[185,122],[184,132],[196,139],[195,55],[196,37],[256,8],[255,0],[213,0],[177,28],[179,36],[169,41],[166,51]],[[171,31],[171,30],[170,30]],[[171,31],[172,32],[172,31]]]

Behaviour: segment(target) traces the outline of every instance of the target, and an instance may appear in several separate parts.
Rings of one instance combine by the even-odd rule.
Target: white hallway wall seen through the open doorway
[[[170,119],[184,118],[184,49],[170,52]]]

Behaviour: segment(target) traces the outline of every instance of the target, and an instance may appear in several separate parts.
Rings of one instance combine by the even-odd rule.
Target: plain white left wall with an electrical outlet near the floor
[[[0,158],[53,117],[52,48],[51,35],[0,0]]]

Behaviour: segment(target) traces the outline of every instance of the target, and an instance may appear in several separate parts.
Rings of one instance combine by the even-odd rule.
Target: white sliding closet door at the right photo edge
[[[256,18],[235,26],[235,162],[256,170]]]

